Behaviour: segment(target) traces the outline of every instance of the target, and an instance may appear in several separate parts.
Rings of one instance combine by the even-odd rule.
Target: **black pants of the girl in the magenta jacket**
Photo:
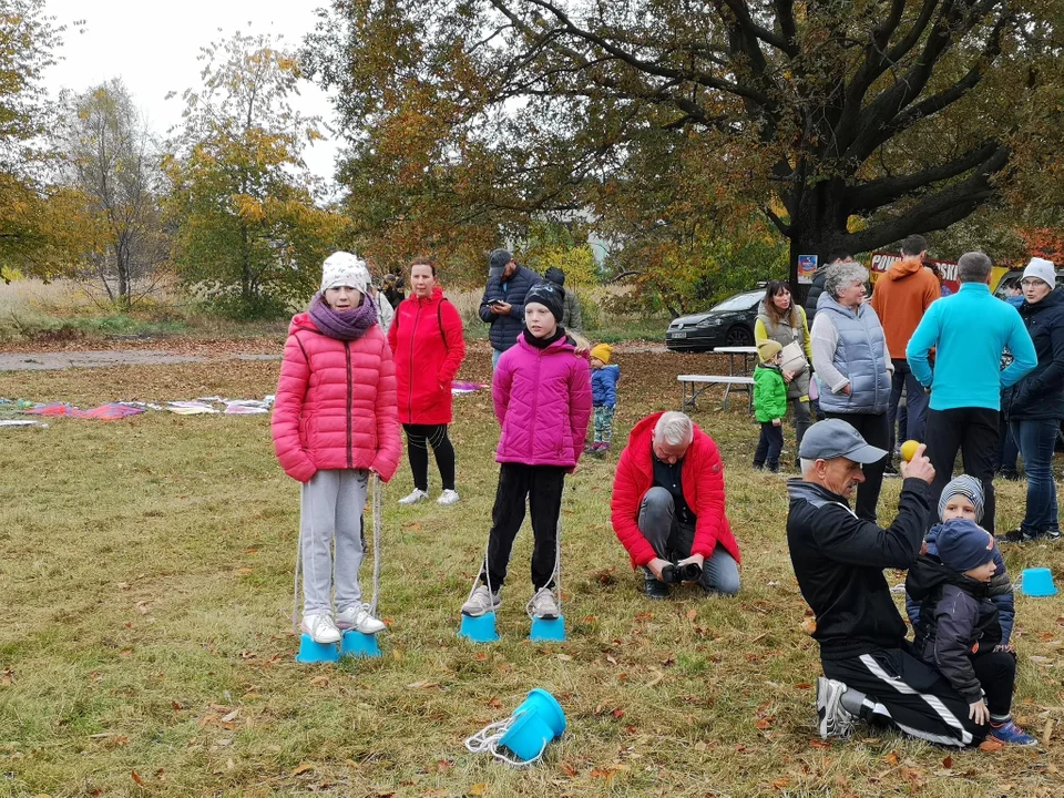
[[[491,534],[488,538],[488,575],[491,590],[507,580],[513,539],[524,522],[524,500],[532,513],[532,584],[535,590],[554,586],[554,563],[557,557],[557,519],[562,511],[565,469],[560,466],[502,463],[495,507],[491,511]],[[484,569],[480,581],[485,582]]]

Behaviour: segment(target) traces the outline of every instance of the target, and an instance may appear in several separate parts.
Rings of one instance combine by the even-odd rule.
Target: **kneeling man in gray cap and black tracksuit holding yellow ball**
[[[886,723],[942,745],[980,743],[986,727],[968,702],[912,655],[883,569],[907,569],[928,529],[934,479],[924,447],[901,467],[898,516],[887,529],[850,510],[861,466],[887,457],[846,421],[820,421],[798,451],[801,479],[788,482],[787,544],[798,585],[816,613],[825,677],[817,681],[822,737],[847,736],[857,719]]]

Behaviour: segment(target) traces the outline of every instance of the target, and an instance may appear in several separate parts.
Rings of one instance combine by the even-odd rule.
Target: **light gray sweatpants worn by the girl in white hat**
[[[362,600],[358,569],[366,556],[362,510],[369,471],[329,469],[318,471],[301,487],[299,545],[303,548],[303,613],[344,612]],[[336,556],[332,548],[336,548]]]

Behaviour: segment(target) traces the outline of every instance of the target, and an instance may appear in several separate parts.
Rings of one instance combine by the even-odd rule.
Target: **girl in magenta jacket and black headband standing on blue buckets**
[[[525,327],[515,346],[499,358],[491,392],[502,427],[495,460],[499,488],[492,510],[488,557],[480,584],[462,605],[477,617],[500,604],[513,539],[532,514],[532,613],[556,618],[554,565],[562,488],[584,448],[591,418],[591,377],[585,356],[559,325],[563,297],[559,286],[539,283],[524,300]],[[489,590],[490,586],[490,590]]]

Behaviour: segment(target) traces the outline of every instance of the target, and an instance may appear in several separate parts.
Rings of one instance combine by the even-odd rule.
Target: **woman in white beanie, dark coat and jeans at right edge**
[[[1004,536],[1011,543],[1061,536],[1053,450],[1064,420],[1064,291],[1055,286],[1053,264],[1032,258],[1020,282],[1020,315],[1039,365],[1012,387],[1005,409],[1027,474],[1027,510],[1020,529]]]

